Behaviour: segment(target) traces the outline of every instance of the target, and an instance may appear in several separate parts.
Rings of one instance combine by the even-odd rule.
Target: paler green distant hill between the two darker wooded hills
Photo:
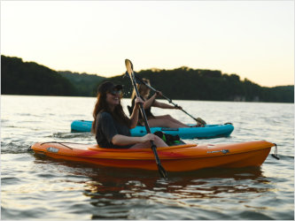
[[[99,85],[102,80],[105,80],[105,77],[96,74],[87,74],[85,72],[79,73],[65,71],[58,73],[67,80],[70,80],[74,87],[79,91],[79,95],[82,96],[96,95],[97,85]]]

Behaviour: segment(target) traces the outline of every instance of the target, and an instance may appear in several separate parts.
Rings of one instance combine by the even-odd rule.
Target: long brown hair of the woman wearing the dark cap
[[[94,118],[93,122],[92,122],[92,127],[91,127],[91,132],[92,133],[97,133],[97,114],[101,111],[105,111],[110,113],[113,118],[119,122],[122,125],[126,125],[130,128],[131,125],[131,121],[130,119],[126,116],[122,105],[120,104],[120,100],[119,100],[119,104],[115,106],[114,110],[112,111],[108,105],[108,103],[106,102],[106,94],[108,93],[108,91],[98,91],[97,92],[97,103],[94,106],[94,110],[92,113],[92,116]]]

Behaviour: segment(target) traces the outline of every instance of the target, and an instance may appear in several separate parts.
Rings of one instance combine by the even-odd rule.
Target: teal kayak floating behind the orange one
[[[92,121],[89,120],[74,120],[71,124],[72,132],[90,132]],[[216,137],[227,137],[234,130],[234,126],[230,123],[223,125],[206,125],[204,127],[151,127],[151,133],[162,131],[172,135],[179,135],[182,139],[207,139]],[[144,136],[146,130],[144,126],[136,126],[130,130],[132,136]]]

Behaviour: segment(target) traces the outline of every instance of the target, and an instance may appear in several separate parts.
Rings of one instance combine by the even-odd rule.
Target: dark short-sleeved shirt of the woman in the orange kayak
[[[97,124],[96,124],[97,134],[97,144],[101,148],[107,149],[128,149],[133,145],[119,146],[114,145],[112,142],[113,136],[120,134],[125,136],[131,136],[128,126],[122,125],[117,122],[113,116],[105,111],[99,112],[97,114]]]

